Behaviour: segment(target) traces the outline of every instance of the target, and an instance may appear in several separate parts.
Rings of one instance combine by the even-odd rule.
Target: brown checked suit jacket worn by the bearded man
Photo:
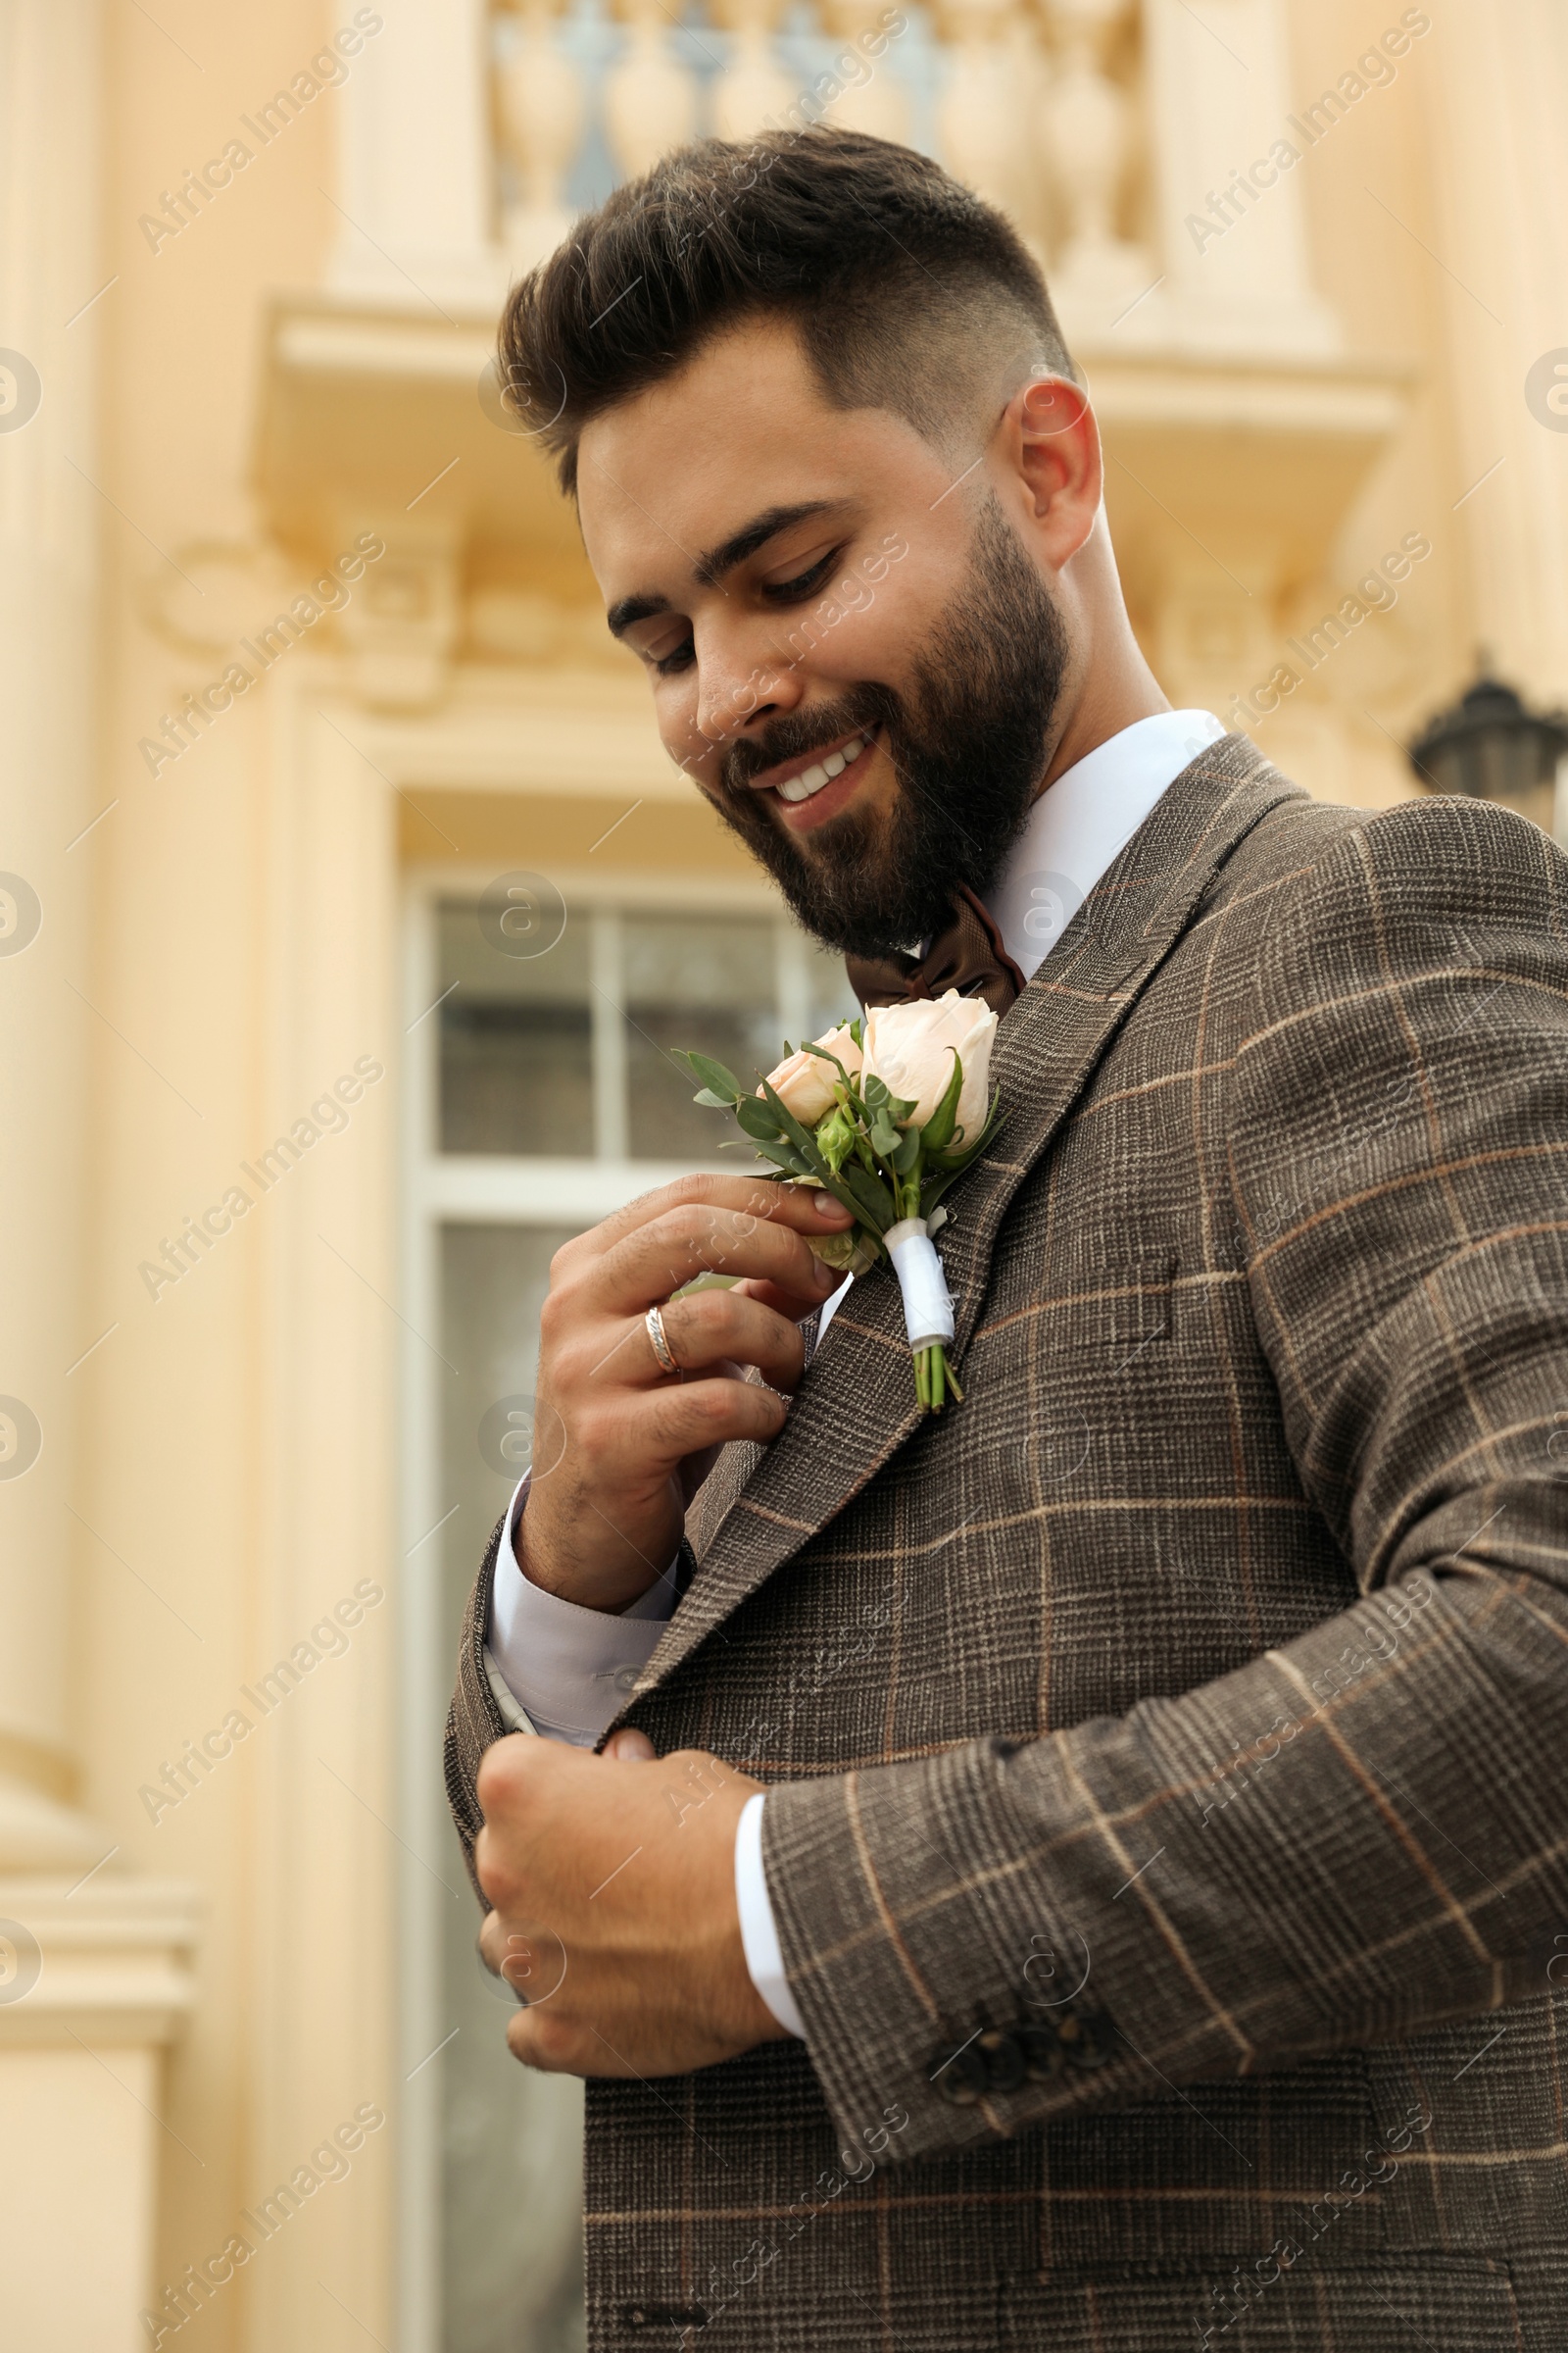
[[[778,1784],[806,2042],[590,2085],[590,2341],[1563,2353],[1568,861],[1227,736],[994,1082],[966,1402],[858,1282],[621,1718]]]

